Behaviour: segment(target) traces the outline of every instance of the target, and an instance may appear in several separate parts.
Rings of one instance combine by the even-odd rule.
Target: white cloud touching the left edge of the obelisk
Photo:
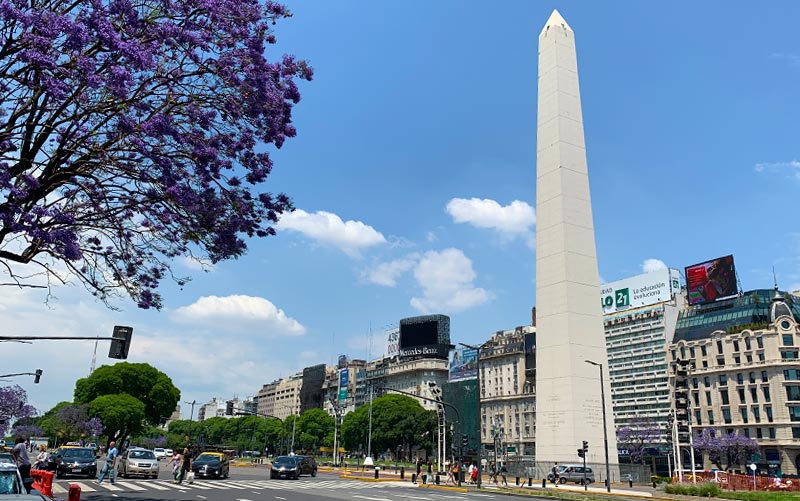
[[[446,211],[456,223],[493,229],[507,238],[520,237],[531,248],[534,246],[532,227],[536,224],[536,211],[527,202],[514,200],[503,206],[486,198],[454,198],[447,202]]]

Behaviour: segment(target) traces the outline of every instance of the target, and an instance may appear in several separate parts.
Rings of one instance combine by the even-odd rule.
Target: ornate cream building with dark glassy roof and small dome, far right
[[[696,450],[698,469],[745,472],[746,463],[755,463],[759,474],[800,474],[799,324],[800,297],[777,286],[680,314],[669,360],[688,362],[688,371],[670,381],[673,392],[676,381],[687,383],[693,445],[700,448],[703,432],[749,437],[758,444],[754,456],[739,455],[731,465],[727,459],[715,464]],[[688,470],[688,440],[680,449],[681,466]]]

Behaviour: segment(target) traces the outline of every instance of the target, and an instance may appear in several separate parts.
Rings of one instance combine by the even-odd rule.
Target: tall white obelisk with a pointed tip
[[[553,11],[539,35],[536,132],[536,462],[587,463],[605,479],[617,441],[608,377],[575,34]],[[598,471],[599,470],[599,471]],[[618,471],[617,468],[614,468]]]

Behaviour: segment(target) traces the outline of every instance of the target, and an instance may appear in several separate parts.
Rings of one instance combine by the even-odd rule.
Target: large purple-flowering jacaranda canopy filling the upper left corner
[[[267,59],[288,16],[259,0],[0,0],[7,283],[77,280],[158,308],[161,280],[185,280],[174,258],[218,262],[274,234],[292,205],[262,191],[267,147],[295,135],[312,76]]]

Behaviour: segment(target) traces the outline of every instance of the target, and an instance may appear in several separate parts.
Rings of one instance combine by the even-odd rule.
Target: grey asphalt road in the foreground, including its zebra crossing
[[[338,472],[321,471],[317,477],[300,480],[271,480],[266,468],[231,468],[228,479],[197,479],[193,484],[176,485],[162,463],[158,479],[126,478],[96,484],[94,479],[63,478],[55,480],[53,493],[66,498],[69,484],[81,487],[82,501],[124,497],[142,501],[313,501],[321,498],[348,501],[458,501],[499,497],[495,494],[464,494],[434,489],[417,489],[410,482],[361,482],[339,478]],[[491,500],[488,500],[491,501]]]

